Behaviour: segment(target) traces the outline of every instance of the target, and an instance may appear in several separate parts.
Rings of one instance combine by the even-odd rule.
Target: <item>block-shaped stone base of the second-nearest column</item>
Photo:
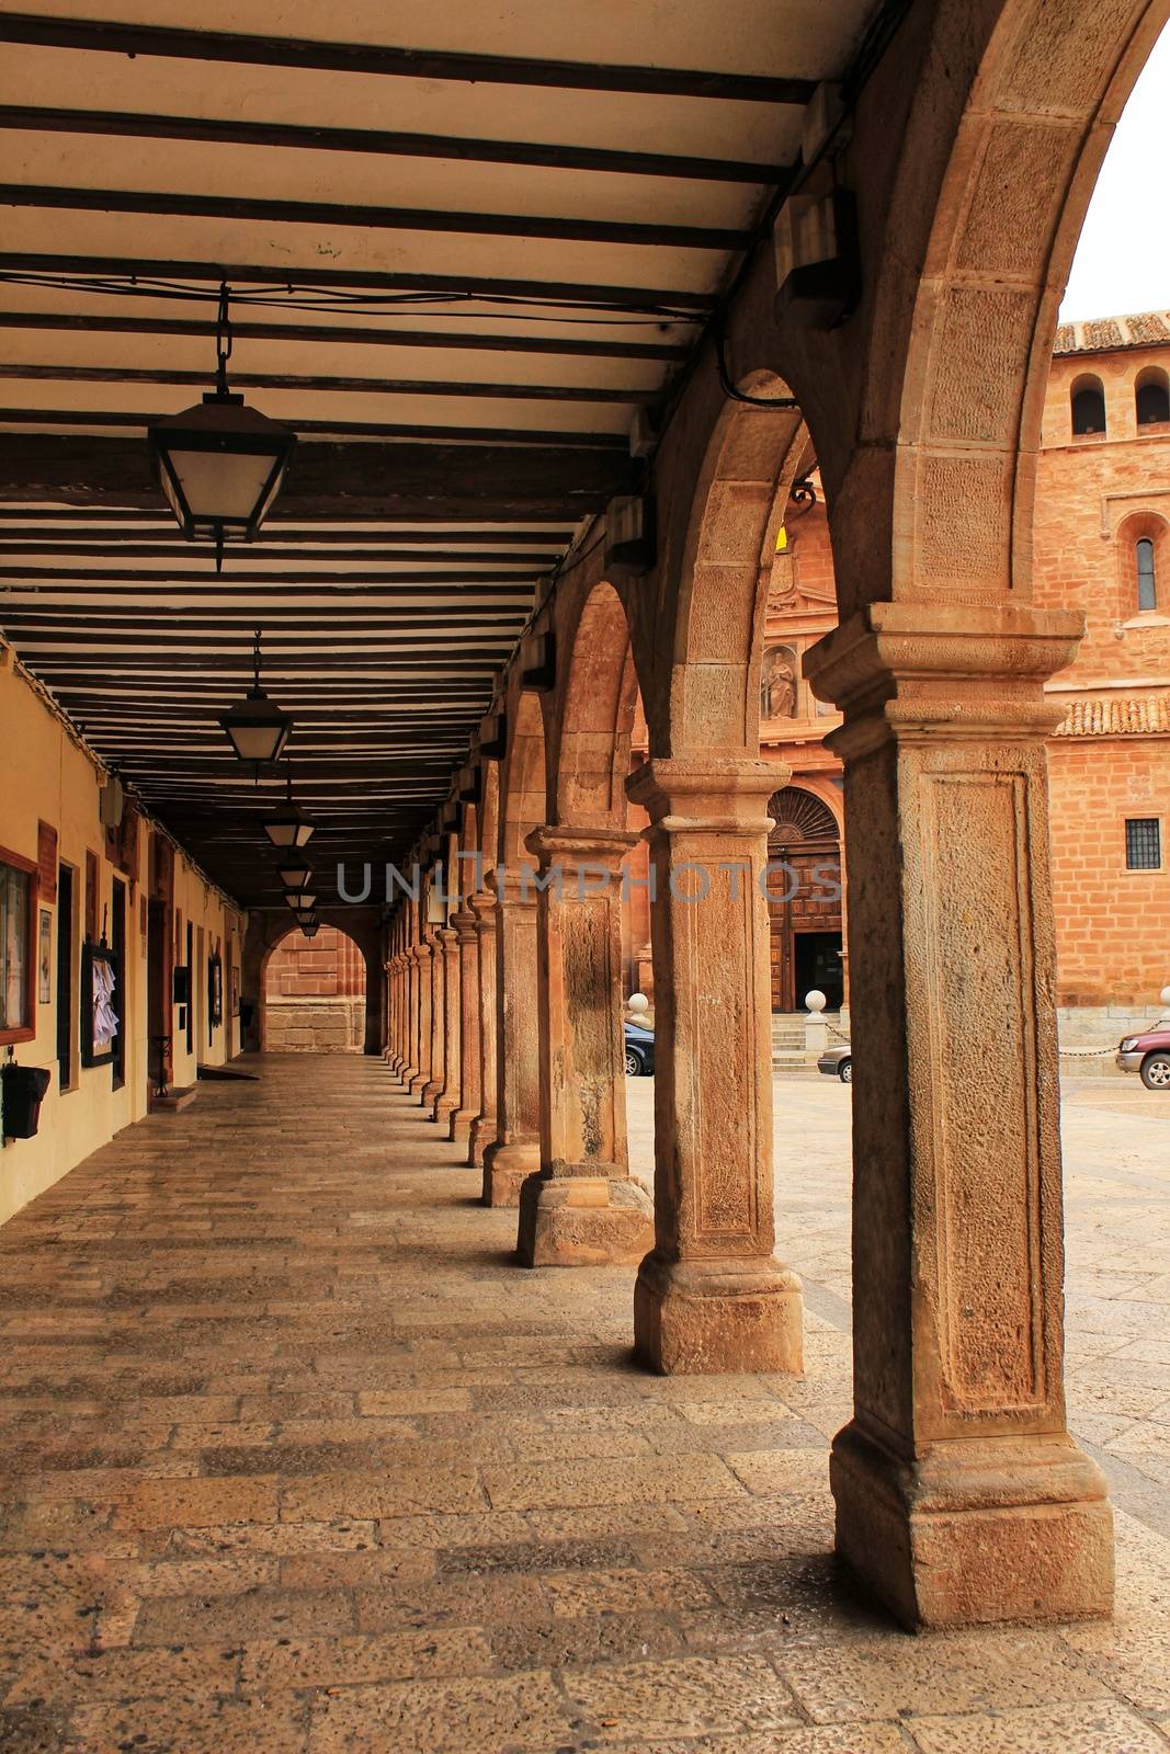
[[[803,1370],[800,1280],[777,1259],[667,1261],[633,1287],[633,1345],[663,1375]]]

